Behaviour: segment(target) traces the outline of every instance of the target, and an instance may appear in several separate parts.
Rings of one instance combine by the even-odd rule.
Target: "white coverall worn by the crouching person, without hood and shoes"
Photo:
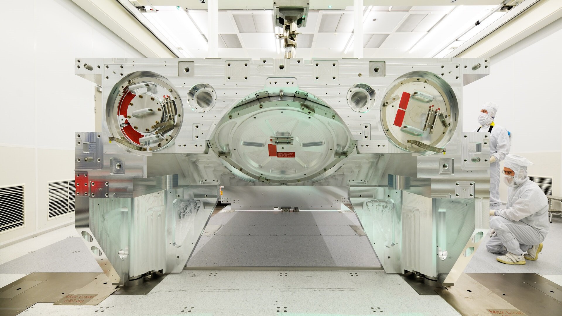
[[[546,195],[524,172],[523,182],[507,190],[507,208],[490,217],[490,228],[497,236],[490,238],[486,248],[495,254],[509,251],[521,256],[531,246],[543,242],[549,232]]]

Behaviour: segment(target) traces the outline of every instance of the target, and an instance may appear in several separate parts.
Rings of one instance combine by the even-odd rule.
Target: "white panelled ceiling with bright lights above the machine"
[[[178,10],[156,7],[144,15],[185,57],[206,57],[206,10]],[[364,57],[445,56],[481,28],[463,31],[486,16],[495,6],[374,6],[366,11]],[[482,25],[489,25],[504,12],[493,13]],[[283,48],[275,39],[271,10],[219,11],[219,56],[282,57]],[[296,56],[352,57],[353,8],[309,12],[306,27],[299,28]],[[483,29],[483,28],[482,28]],[[347,48],[347,49],[346,49]],[[445,48],[445,49],[443,49]],[[444,55],[445,54],[445,55]]]

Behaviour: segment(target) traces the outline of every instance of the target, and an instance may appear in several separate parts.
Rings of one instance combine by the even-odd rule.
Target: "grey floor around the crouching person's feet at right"
[[[465,269],[465,273],[538,273],[562,274],[562,219],[552,219],[549,234],[543,244],[543,249],[537,261],[527,260],[524,265],[503,264],[496,260],[497,254],[486,250],[486,236],[473,258]]]

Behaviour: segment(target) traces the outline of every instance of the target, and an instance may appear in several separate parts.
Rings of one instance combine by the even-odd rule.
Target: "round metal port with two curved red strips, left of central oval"
[[[125,76],[107,99],[110,141],[137,152],[170,145],[182,127],[182,115],[182,100],[173,85],[151,71]]]

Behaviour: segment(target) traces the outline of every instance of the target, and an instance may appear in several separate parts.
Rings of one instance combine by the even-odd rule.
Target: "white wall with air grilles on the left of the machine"
[[[94,85],[75,58],[144,56],[70,0],[3,3],[0,28],[0,186],[25,184],[26,216],[2,246],[74,218],[48,219],[47,184],[74,178],[74,132],[94,130]]]

